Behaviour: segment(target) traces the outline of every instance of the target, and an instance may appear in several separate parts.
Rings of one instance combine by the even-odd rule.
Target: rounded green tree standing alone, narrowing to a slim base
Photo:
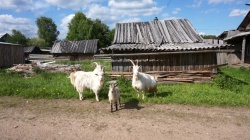
[[[46,47],[52,47],[55,40],[57,40],[60,32],[57,30],[57,26],[51,18],[40,17],[36,19],[36,25],[38,27],[38,36],[46,42]]]

